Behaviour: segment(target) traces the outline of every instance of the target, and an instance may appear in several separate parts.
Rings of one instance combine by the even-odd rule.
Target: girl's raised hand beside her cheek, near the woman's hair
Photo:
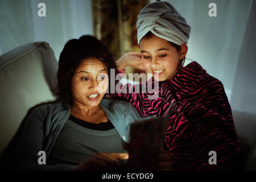
[[[139,52],[127,52],[125,55],[120,57],[117,61],[117,69],[125,69],[126,67],[134,67],[137,69],[145,70],[143,67],[142,55]]]

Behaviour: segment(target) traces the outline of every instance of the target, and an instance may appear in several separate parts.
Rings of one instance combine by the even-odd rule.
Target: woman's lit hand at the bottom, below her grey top
[[[92,158],[77,166],[77,171],[97,171],[104,170],[108,166],[120,164],[119,160],[128,159],[129,155],[125,153],[104,153],[97,152]]]

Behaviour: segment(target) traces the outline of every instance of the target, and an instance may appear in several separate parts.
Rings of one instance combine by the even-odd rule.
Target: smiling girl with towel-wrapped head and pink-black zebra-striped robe
[[[183,67],[191,30],[183,16],[170,3],[150,3],[138,15],[137,28],[141,53],[126,53],[117,68],[147,69],[153,77],[146,83],[126,85],[137,93],[110,95],[129,101],[143,117],[164,115],[168,105],[174,104],[163,142],[172,156],[172,169],[243,169],[232,110],[221,81],[196,61]],[[154,84],[159,85],[155,99],[149,99],[152,93],[138,93]]]

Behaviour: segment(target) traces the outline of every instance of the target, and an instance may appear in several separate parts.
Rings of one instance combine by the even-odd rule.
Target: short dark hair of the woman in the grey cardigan
[[[58,95],[61,101],[73,104],[71,80],[75,70],[86,58],[96,58],[105,64],[110,77],[110,69],[116,71],[112,54],[106,46],[92,35],[83,35],[79,39],[71,39],[65,44],[60,53],[59,68],[57,71]],[[110,84],[110,81],[109,81]],[[110,88],[110,87],[109,87]]]

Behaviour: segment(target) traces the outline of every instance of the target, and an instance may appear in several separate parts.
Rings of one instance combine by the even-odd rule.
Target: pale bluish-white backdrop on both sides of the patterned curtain
[[[40,2],[46,3],[46,17],[38,16]],[[187,58],[222,81],[232,108],[256,114],[255,1],[167,2],[192,27]],[[217,5],[217,17],[208,15],[210,2]],[[0,55],[26,43],[46,41],[59,59],[65,42],[83,34],[93,34],[91,1],[0,1]]]

